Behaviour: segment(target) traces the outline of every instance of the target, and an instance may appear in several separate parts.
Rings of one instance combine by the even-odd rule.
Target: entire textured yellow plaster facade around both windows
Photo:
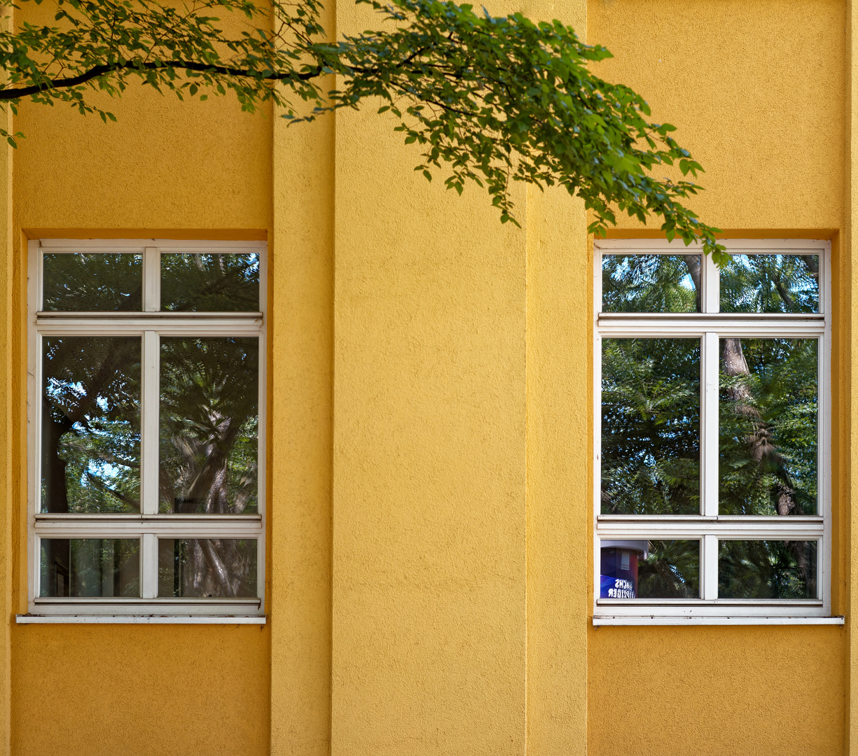
[[[614,58],[704,164],[728,237],[832,241],[833,606],[844,627],[592,627],[583,204],[414,172],[372,106],[287,126],[142,89],[25,105],[2,154],[0,753],[858,753],[858,25],[836,0],[493,2]],[[858,19],[855,19],[858,21]],[[326,27],[374,23],[340,3]],[[5,173],[3,173],[5,171]],[[657,225],[656,225],[657,228]],[[615,236],[655,231],[623,220]],[[27,238],[269,241],[263,627],[27,611]],[[855,543],[858,546],[858,543]],[[855,726],[853,726],[855,723]],[[855,742],[855,747],[851,744]]]

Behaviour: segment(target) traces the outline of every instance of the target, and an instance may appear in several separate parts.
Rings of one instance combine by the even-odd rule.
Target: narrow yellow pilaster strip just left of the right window
[[[529,0],[586,39],[587,2]],[[592,603],[592,245],[583,201],[528,195],[528,753],[587,749]]]

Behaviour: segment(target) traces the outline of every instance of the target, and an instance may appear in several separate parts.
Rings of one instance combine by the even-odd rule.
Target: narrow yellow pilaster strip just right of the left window
[[[323,25],[334,32],[334,4]],[[333,86],[323,81],[322,88]],[[274,118],[269,299],[271,753],[330,753],[335,118]]]

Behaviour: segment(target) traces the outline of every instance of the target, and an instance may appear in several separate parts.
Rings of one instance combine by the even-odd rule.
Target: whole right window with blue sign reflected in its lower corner
[[[596,242],[595,624],[831,613],[830,245],[726,246]]]

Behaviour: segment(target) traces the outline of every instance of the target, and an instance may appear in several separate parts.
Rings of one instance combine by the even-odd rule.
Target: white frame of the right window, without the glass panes
[[[842,622],[831,618],[831,243],[810,239],[729,239],[731,254],[819,255],[819,314],[757,315],[718,311],[718,268],[699,246],[679,240],[597,239],[594,244],[594,559],[593,623],[720,624]],[[701,313],[602,313],[601,255],[701,255],[704,296]],[[700,493],[702,513],[693,516],[601,513],[601,339],[606,337],[700,338]],[[718,514],[719,339],[813,337],[819,339],[819,515],[787,517]],[[714,418],[715,422],[711,422]],[[698,599],[608,599],[600,597],[601,540],[682,538],[700,541]],[[816,540],[819,599],[717,598],[718,539]]]

